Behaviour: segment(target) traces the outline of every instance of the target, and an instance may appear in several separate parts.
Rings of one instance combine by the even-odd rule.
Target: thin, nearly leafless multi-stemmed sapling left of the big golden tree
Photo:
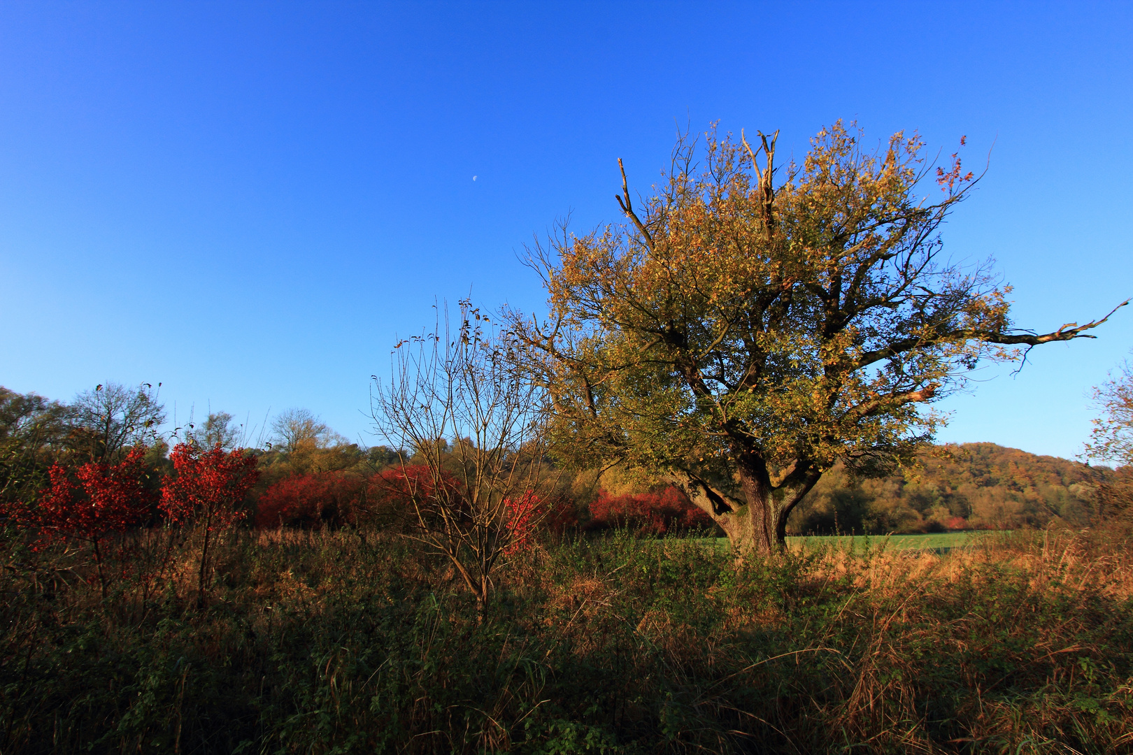
[[[398,344],[390,380],[374,378],[373,415],[390,447],[414,449],[383,474],[410,537],[449,559],[483,615],[492,570],[531,524],[527,508],[511,514],[542,483],[540,392],[508,334],[468,301],[459,316],[455,333],[438,323]]]

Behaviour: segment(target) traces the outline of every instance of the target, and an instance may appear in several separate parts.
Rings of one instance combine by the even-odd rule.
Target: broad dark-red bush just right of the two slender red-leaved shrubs
[[[259,497],[256,526],[321,530],[357,523],[368,481],[341,473],[297,474],[272,484]]]

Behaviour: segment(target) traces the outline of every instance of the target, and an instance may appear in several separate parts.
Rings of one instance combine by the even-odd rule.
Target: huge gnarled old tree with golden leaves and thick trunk
[[[972,174],[922,148],[896,134],[863,151],[838,122],[781,174],[775,136],[709,132],[702,169],[682,140],[640,207],[623,171],[627,224],[530,250],[550,318],[510,316],[559,452],[671,481],[738,554],[768,552],[835,462],[884,471],[931,439],[942,417],[920,407],[977,362],[1091,337],[1105,318],[1019,329],[987,266],[943,258]],[[920,194],[934,174],[937,200]]]

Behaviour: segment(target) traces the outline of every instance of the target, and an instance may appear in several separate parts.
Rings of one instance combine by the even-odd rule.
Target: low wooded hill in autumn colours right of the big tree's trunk
[[[793,533],[929,532],[1091,523],[1093,486],[1113,472],[993,443],[937,446],[920,467],[876,480],[828,472],[792,514]]]

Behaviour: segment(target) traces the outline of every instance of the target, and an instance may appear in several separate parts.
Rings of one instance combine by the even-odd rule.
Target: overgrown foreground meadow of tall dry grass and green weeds
[[[485,619],[397,538],[228,531],[204,606],[199,533],[120,546],[102,599],[85,551],[5,540],[5,755],[1133,753],[1118,535],[578,539],[502,567]]]

